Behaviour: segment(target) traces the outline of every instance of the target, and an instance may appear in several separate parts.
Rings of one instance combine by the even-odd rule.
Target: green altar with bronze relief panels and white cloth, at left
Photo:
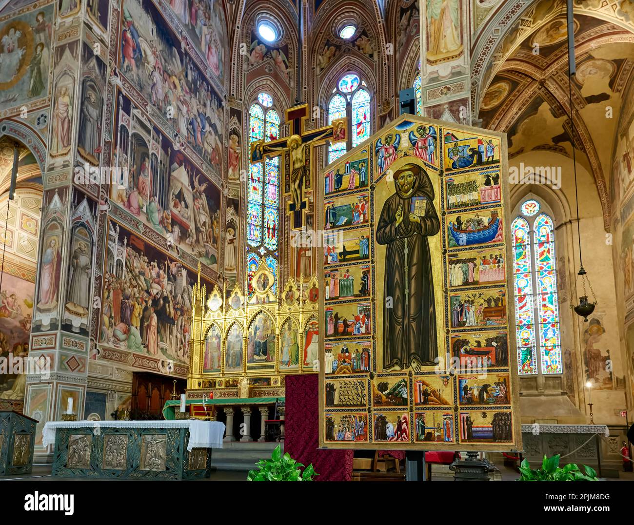
[[[175,421],[48,422],[53,476],[101,479],[196,479],[211,473],[211,449],[223,448],[224,424]]]

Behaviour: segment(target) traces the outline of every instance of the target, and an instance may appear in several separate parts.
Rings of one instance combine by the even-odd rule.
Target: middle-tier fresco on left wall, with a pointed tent
[[[127,178],[112,186],[113,202],[164,235],[175,254],[219,268],[221,191],[131,101],[119,101],[115,158]]]

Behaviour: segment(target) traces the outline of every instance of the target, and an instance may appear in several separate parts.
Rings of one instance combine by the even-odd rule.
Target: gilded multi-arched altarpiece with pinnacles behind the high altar
[[[262,260],[240,285],[193,289],[188,398],[285,395],[285,376],[318,372],[318,280],[278,289]]]

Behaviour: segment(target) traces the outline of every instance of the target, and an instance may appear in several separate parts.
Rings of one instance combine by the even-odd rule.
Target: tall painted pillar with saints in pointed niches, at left
[[[46,95],[48,90],[50,105],[37,112],[24,106],[22,115],[33,126],[41,120],[41,112],[50,115],[48,148],[41,159],[40,255],[29,344],[29,355],[41,358],[45,372],[27,375],[23,408],[25,415],[39,420],[38,433],[46,422],[61,420],[70,399],[77,420],[87,415],[91,339],[98,340],[101,318],[100,292],[94,290],[101,290],[102,284],[106,215],[98,205],[100,171],[93,170],[97,173],[92,179],[90,172],[110,164],[109,146],[103,139],[107,133],[99,132],[95,124],[105,126],[105,120],[110,120],[103,119],[111,89],[107,86],[108,33],[94,32],[84,23],[85,3],[74,4],[76,8],[56,13],[50,6],[33,6],[54,30],[51,41],[44,38],[42,53],[50,57],[52,76],[43,91]],[[49,72],[42,76],[48,78]],[[84,115],[86,107],[94,109],[96,119]],[[58,115],[55,119],[54,114]],[[114,404],[111,399],[110,406]],[[36,462],[46,462],[53,453],[53,447],[42,446],[39,439],[34,450]]]

